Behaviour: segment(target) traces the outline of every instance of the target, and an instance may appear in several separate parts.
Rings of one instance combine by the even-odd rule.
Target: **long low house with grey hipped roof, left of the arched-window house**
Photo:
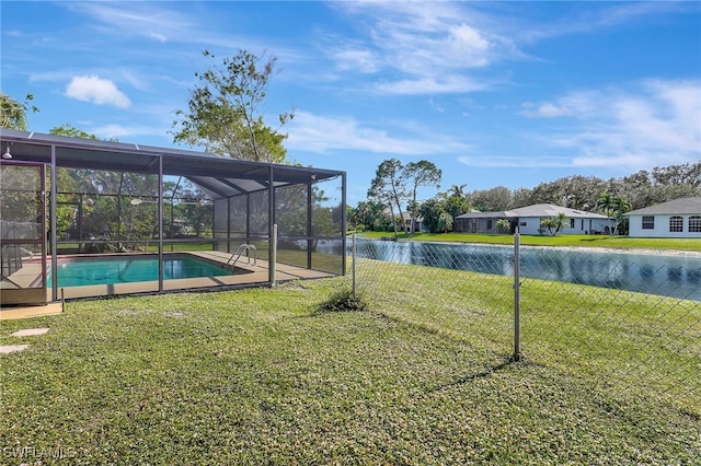
[[[512,231],[518,225],[521,234],[543,234],[540,222],[544,219],[564,213],[567,221],[559,234],[597,234],[613,228],[613,221],[600,213],[570,209],[552,203],[537,203],[503,212],[470,212],[456,218],[452,225],[456,232],[497,233],[496,222],[508,219]]]

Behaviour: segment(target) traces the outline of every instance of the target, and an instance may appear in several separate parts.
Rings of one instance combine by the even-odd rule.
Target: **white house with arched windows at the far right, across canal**
[[[627,215],[631,237],[701,238],[701,197],[670,200],[632,210]]]

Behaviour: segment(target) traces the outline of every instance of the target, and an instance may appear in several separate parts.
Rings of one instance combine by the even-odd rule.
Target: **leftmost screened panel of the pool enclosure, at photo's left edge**
[[[0,163],[0,304],[46,304],[43,164]]]

